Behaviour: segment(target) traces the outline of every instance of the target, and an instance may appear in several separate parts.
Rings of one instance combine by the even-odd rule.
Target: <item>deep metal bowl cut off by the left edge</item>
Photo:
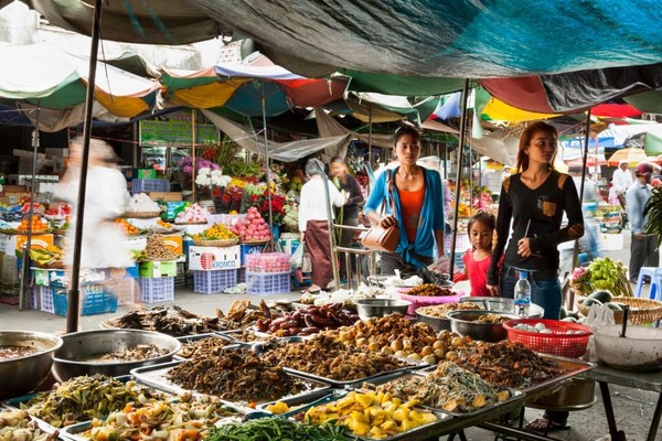
[[[57,335],[31,331],[0,331],[1,346],[28,346],[36,353],[0,361],[0,398],[12,398],[36,389],[49,376],[53,353],[62,346]]]

